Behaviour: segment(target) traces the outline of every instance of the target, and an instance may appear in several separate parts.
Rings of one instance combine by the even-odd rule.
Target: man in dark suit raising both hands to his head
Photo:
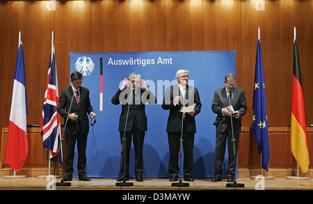
[[[127,84],[130,86],[127,87]],[[141,84],[141,88],[138,85]],[[155,104],[157,102],[154,94],[147,88],[145,80],[140,79],[136,73],[129,74],[128,79],[124,79],[122,86],[112,97],[111,102],[115,105],[122,104],[120,114],[120,141],[122,146],[122,164],[120,166],[120,176],[118,181],[129,180],[129,152],[131,149],[131,135],[135,149],[135,175],[136,181],[143,181],[143,141],[145,131],[147,131],[147,116],[145,115],[145,104]]]

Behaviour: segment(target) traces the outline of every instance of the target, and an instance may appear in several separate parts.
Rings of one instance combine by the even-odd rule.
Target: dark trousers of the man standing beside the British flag
[[[65,157],[65,173],[66,175],[72,176],[74,168],[74,150],[75,144],[77,141],[77,150],[78,150],[78,162],[77,162],[77,170],[79,176],[85,175],[86,168],[86,146],[87,146],[87,134],[81,134],[78,131],[77,134],[67,134],[65,136],[66,141],[66,157]]]

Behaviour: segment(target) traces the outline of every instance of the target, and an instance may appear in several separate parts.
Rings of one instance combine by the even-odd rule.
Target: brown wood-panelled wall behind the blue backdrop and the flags
[[[268,123],[286,127],[291,114],[293,27],[297,27],[307,125],[313,123],[313,1],[265,0],[107,0],[49,1],[0,0],[0,127],[8,127],[18,31],[22,31],[29,99],[28,124],[39,124],[47,66],[54,30],[59,93],[69,86],[70,52],[145,52],[236,50],[237,84],[246,91],[252,123],[252,95],[257,49],[257,26],[266,86]],[[221,79],[223,80],[223,79]],[[271,166],[294,168],[289,134],[271,133]],[[312,146],[312,134],[308,134]],[[38,143],[40,141],[31,141]],[[250,132],[241,136],[239,166],[259,167],[257,144]],[[253,153],[252,153],[253,152]],[[282,153],[284,152],[284,153]],[[248,154],[248,156],[246,156]],[[284,159],[280,159],[284,155]],[[313,164],[313,148],[310,148]],[[30,161],[31,162],[31,161]],[[36,162],[36,161],[34,161]],[[37,161],[38,162],[38,161]]]

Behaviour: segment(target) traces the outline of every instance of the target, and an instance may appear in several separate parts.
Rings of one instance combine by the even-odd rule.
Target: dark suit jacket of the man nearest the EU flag
[[[246,95],[245,91],[240,88],[234,88],[232,93],[232,107],[234,111],[239,111],[239,118],[232,117],[232,125],[234,127],[234,134],[240,134],[241,132],[241,117],[246,114]],[[223,116],[222,109],[229,107],[230,104],[227,99],[226,88],[219,88],[215,91],[212,100],[212,111],[218,114],[214,125],[216,125],[216,132],[225,132],[227,125],[231,125],[230,116]]]

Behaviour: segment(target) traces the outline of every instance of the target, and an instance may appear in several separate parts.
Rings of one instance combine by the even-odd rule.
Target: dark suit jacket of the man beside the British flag
[[[65,132],[64,132],[65,134],[77,134],[77,130],[79,130],[79,126],[81,127],[81,131],[83,134],[88,134],[89,132],[88,115],[91,111],[93,111],[93,107],[90,105],[89,90],[88,88],[84,88],[81,86],[81,88],[79,88],[79,93],[80,93],[80,99],[79,99],[79,106],[78,106],[75,98],[73,98],[74,92],[73,92],[72,86],[64,88],[61,91],[61,97],[60,97],[59,104],[58,104],[58,113],[66,121],[68,111],[70,109],[70,104],[73,98],[70,113],[78,113],[79,115],[77,120],[71,120],[70,118],[67,120]]]

